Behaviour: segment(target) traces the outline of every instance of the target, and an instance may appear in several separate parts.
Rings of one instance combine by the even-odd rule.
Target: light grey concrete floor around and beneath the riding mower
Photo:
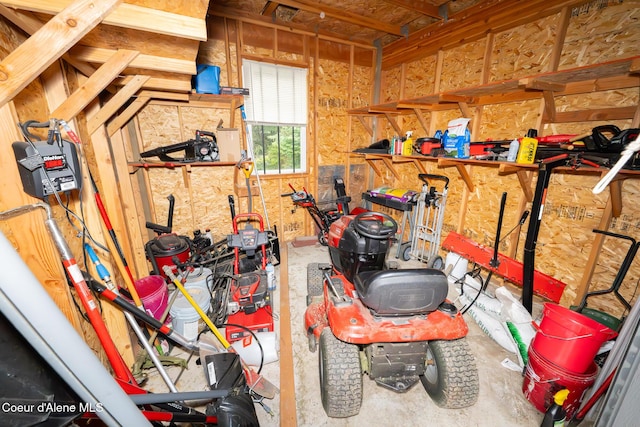
[[[522,393],[523,376],[502,366],[505,359],[517,362],[516,356],[504,350],[484,332],[467,313],[465,319],[469,325],[468,342],[476,357],[480,377],[478,402],[472,407],[458,410],[441,409],[436,406],[420,383],[406,393],[395,393],[383,389],[370,380],[363,379],[363,403],[357,416],[347,419],[335,419],[326,416],[320,398],[318,377],[318,352],[311,353],[304,331],[304,311],[306,309],[306,266],[311,262],[329,262],[328,250],[319,244],[303,247],[287,246],[287,264],[276,267],[288,270],[290,298],[291,340],[293,346],[295,405],[298,426],[364,426],[364,425],[402,425],[402,426],[539,426],[543,414],[524,397]],[[395,260],[395,251],[390,251],[391,260]],[[416,261],[402,262],[400,268],[406,268]],[[413,264],[415,265],[415,264]],[[275,328],[279,331],[280,287],[275,292],[274,315]],[[515,293],[515,292],[514,292]],[[457,295],[450,286],[450,298]],[[516,295],[517,296],[517,295]],[[539,313],[539,301],[534,306],[534,316]],[[195,365],[192,358],[189,369],[184,371],[176,387],[180,391],[204,389],[204,371]],[[169,368],[170,376],[175,378],[176,367]],[[262,375],[269,382],[280,387],[279,362],[263,367]],[[149,372],[151,389],[167,391],[154,370]],[[273,410],[269,415],[256,404],[260,424],[265,427],[288,426],[292,423],[280,418],[280,395],[264,400]],[[293,402],[292,402],[293,404]]]

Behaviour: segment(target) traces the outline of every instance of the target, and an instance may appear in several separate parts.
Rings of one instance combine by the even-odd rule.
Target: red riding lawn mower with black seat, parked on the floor
[[[389,215],[344,215],[327,235],[331,265],[307,266],[305,329],[319,350],[322,404],[329,417],[360,411],[362,376],[405,392],[420,380],[440,407],[478,397],[468,327],[447,300],[444,272],[392,269],[387,253],[398,224]]]

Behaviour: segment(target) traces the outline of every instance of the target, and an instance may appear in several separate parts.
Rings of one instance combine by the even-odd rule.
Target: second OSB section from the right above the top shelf
[[[558,16],[551,15],[496,34],[489,80],[517,79],[549,71],[557,21]]]

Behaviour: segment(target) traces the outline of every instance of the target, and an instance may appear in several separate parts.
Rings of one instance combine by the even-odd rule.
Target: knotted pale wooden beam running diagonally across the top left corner
[[[0,62],[0,106],[98,25],[120,1],[76,0],[7,55]]]

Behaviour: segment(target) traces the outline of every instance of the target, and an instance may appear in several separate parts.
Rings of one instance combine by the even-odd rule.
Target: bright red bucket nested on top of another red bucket
[[[587,372],[602,344],[618,335],[613,329],[558,304],[545,303],[530,348],[574,374]]]

